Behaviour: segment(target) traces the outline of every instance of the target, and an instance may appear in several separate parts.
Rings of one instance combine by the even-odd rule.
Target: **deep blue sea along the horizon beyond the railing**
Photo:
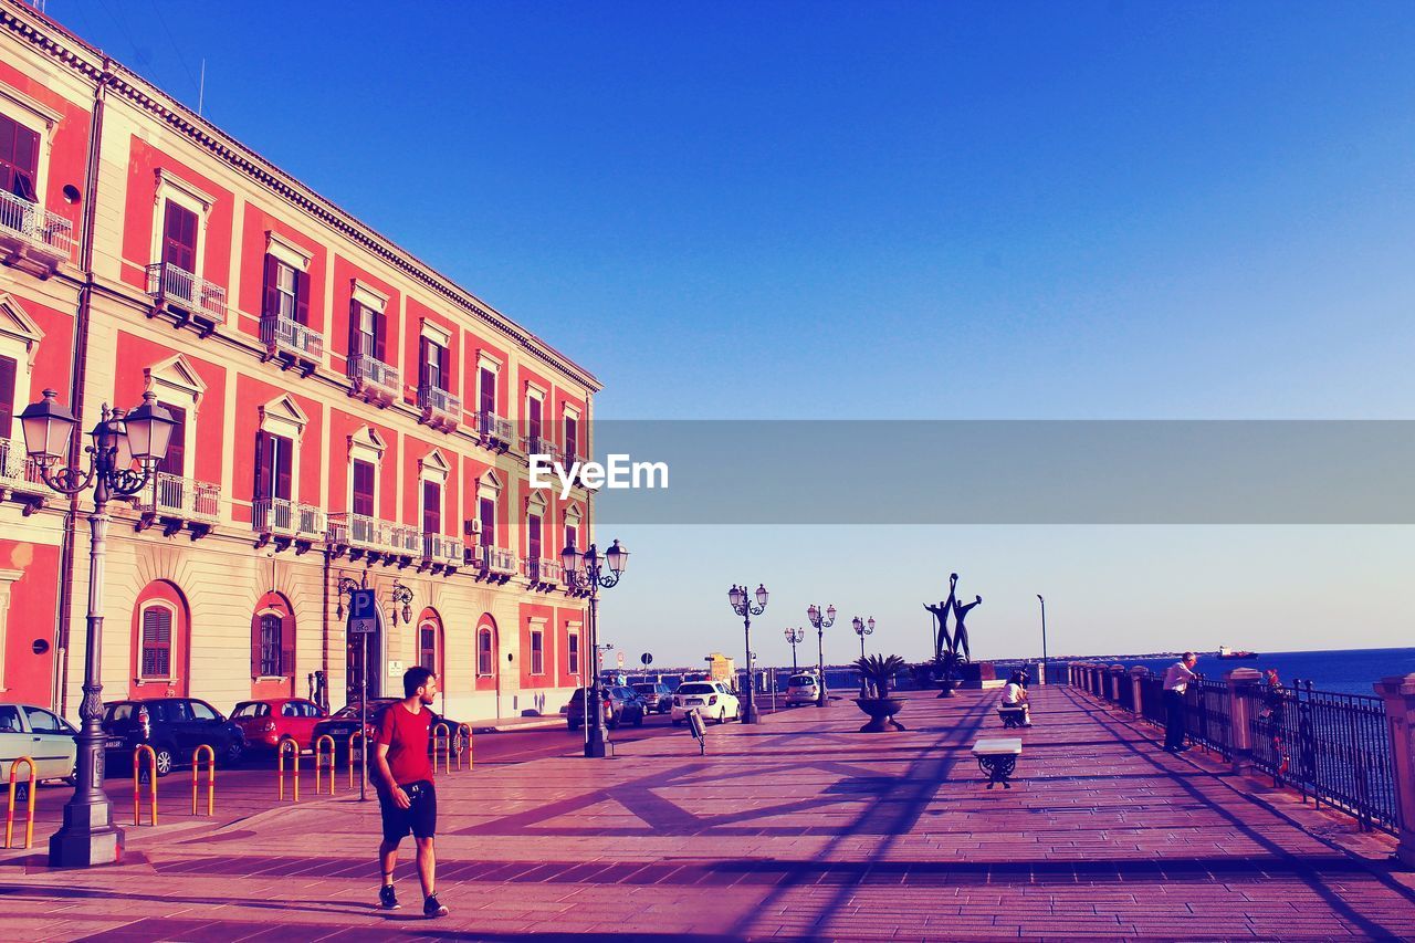
[[[1221,678],[1230,668],[1278,670],[1278,678],[1292,685],[1312,681],[1316,691],[1374,695],[1381,678],[1415,673],[1415,648],[1333,648],[1329,651],[1264,651],[1257,658],[1220,658],[1215,653],[1197,653],[1194,668],[1208,678]],[[1165,671],[1177,656],[1092,656],[1068,661],[1104,661],[1126,668],[1145,665],[1150,671]]]

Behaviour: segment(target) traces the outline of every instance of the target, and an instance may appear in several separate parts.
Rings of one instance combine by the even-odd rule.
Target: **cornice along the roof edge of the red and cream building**
[[[599,379],[569,357],[490,304],[485,304],[451,279],[440,275],[436,269],[419,261],[386,236],[359,222],[333,201],[282,171],[273,163],[219,130],[211,122],[164,95],[134,72],[105,57],[99,50],[88,45],[47,16],[18,3],[18,0],[0,0],[0,28],[28,42],[65,68],[83,75],[88,81],[108,84],[112,93],[120,95],[167,126],[181,132],[188,140],[225,161],[229,167],[243,173],[286,202],[299,207],[330,229],[361,245],[402,275],[434,292],[444,300],[451,302],[466,314],[509,338],[529,355],[556,370],[563,377],[583,385],[591,392],[601,389]]]

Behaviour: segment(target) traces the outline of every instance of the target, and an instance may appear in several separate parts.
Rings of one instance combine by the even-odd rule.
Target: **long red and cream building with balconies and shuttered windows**
[[[318,671],[340,707],[341,578],[378,592],[383,692],[427,664],[451,716],[553,714],[586,667],[558,559],[589,544],[589,494],[532,491],[526,455],[589,455],[594,377],[0,0],[0,701],[72,718],[91,505],[25,459],[18,413],[45,388],[83,429],[147,391],[180,419],[154,481],[110,505],[106,699],[229,709]]]

